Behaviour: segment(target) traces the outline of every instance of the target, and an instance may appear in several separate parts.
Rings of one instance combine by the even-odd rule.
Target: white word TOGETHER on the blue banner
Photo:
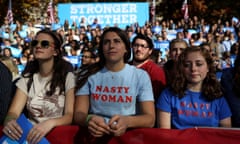
[[[128,23],[135,23],[137,22],[137,16],[134,14],[130,15],[89,15],[89,16],[77,16],[77,15],[71,15],[70,19],[72,21],[80,21],[81,18],[84,17],[88,23],[92,23],[95,18],[98,19],[99,24],[105,23],[105,24],[110,24],[112,23],[123,23],[123,24],[128,24]]]

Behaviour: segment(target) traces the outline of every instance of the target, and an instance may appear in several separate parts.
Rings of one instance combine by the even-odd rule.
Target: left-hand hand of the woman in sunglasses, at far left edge
[[[18,140],[21,138],[23,131],[17,124],[16,119],[12,119],[4,125],[3,133],[13,140]]]

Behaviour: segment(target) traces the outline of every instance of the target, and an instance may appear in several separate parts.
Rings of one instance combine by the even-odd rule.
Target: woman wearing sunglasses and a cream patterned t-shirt
[[[17,90],[5,118],[3,132],[17,140],[23,134],[16,119],[26,106],[34,124],[27,141],[37,143],[52,128],[71,124],[74,105],[74,75],[61,55],[62,41],[49,30],[36,34],[31,42],[34,60],[29,61],[16,83]]]

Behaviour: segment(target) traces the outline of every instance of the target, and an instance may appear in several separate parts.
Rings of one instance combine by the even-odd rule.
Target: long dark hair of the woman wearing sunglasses
[[[54,94],[57,87],[60,88],[59,94],[65,91],[65,81],[67,73],[70,71],[69,63],[62,58],[61,45],[62,41],[59,39],[57,33],[50,30],[41,30],[39,34],[47,34],[51,36],[54,40],[54,48],[57,52],[57,55],[54,56],[54,64],[53,64],[53,74],[52,78],[49,81],[50,89],[46,92],[46,95],[51,96]],[[28,91],[30,90],[31,84],[33,82],[33,75],[39,72],[39,63],[38,60],[34,59],[29,61],[22,72],[22,76],[25,78],[29,78],[27,83]]]

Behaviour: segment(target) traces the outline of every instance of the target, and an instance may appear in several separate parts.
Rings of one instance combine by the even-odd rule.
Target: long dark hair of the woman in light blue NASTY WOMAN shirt
[[[75,91],[80,89],[86,83],[89,76],[91,76],[92,74],[95,74],[96,72],[98,72],[100,69],[102,69],[104,67],[104,65],[106,63],[106,59],[103,55],[103,40],[104,40],[105,35],[108,32],[115,32],[121,38],[123,43],[125,44],[127,53],[124,55],[124,62],[127,63],[128,60],[130,59],[130,56],[131,56],[130,41],[128,39],[126,32],[118,27],[106,28],[100,38],[99,51],[98,51],[100,60],[98,63],[89,65],[89,66],[83,68],[79,73],[77,73]]]

